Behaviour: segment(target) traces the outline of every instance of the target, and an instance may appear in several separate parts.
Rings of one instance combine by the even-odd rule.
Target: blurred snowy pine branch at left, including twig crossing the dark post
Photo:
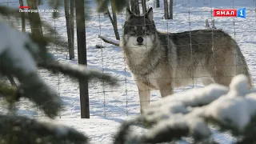
[[[3,19],[0,19],[0,34],[5,34],[0,38],[0,74],[18,78],[23,91],[21,96],[35,102],[50,118],[58,115],[61,99],[37,74],[38,66],[80,80],[98,78],[109,82],[110,85],[117,84],[117,79],[110,77],[110,75],[102,74],[96,70],[87,70],[85,66],[60,64],[47,58],[46,45],[50,38],[35,35],[31,37],[10,27]],[[1,90],[1,93],[4,92],[6,91]],[[17,98],[14,97],[14,99]]]

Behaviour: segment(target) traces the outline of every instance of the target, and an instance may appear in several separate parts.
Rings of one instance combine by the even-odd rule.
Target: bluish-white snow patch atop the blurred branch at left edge
[[[26,46],[33,48],[33,51]],[[38,46],[26,34],[12,28],[0,15],[0,56],[5,54],[15,68],[30,73],[37,70],[31,53],[38,53]]]

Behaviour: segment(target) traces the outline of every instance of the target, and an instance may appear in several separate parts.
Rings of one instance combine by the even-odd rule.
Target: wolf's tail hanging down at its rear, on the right
[[[246,62],[246,58],[243,56],[238,43],[234,41],[234,46],[235,46],[235,50],[236,50],[236,75],[238,74],[245,74],[250,82],[250,86],[253,86],[253,80],[251,78],[250,72],[249,72],[249,68]]]

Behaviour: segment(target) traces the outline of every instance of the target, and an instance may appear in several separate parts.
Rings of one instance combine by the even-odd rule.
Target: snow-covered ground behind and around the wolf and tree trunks
[[[0,5],[18,8],[18,0],[0,0]],[[154,1],[147,2],[148,6],[154,6]],[[94,8],[94,3],[90,3]],[[246,7],[246,18],[214,18],[215,26],[229,33],[238,42],[242,54],[246,57],[250,73],[256,81],[256,1],[255,0],[174,0],[174,20],[163,20],[163,6],[154,9],[154,21],[158,30],[169,32],[181,32],[185,30],[205,29],[205,21],[213,19],[211,10],[238,9]],[[38,6],[38,9],[49,9],[47,4]],[[63,8],[59,10],[60,18],[51,18],[50,13],[42,13],[44,21],[49,22],[58,34],[66,38],[66,18]],[[122,25],[125,22],[125,13],[118,14],[118,30],[122,34]],[[18,22],[16,22],[18,24]],[[19,27],[20,24],[18,25]],[[29,30],[29,27],[26,27]],[[76,32],[76,31],[75,31]],[[102,70],[104,73],[113,75],[120,80],[121,86],[104,86],[102,82],[90,82],[90,119],[80,119],[80,102],[78,82],[64,77],[62,74],[54,75],[45,70],[39,70],[42,78],[58,91],[64,102],[63,110],[56,121],[81,130],[91,138],[92,143],[110,143],[113,134],[123,120],[133,118],[139,114],[139,100],[137,86],[131,78],[130,71],[124,62],[122,51],[117,46],[102,42],[98,35],[114,38],[114,31],[110,20],[102,14],[92,10],[90,19],[86,22],[86,47],[88,66],[93,69]],[[76,33],[75,47],[76,44]],[[67,38],[66,38],[67,39]],[[96,49],[95,45],[106,46],[104,49]],[[66,60],[68,53],[50,47],[51,52],[59,61],[77,64],[76,58],[72,61]],[[190,85],[176,89],[182,92],[191,88],[202,87],[201,84]],[[154,91],[151,98],[156,101],[160,98],[158,91]],[[0,111],[5,107],[1,106]],[[33,103],[23,100],[18,103],[18,114],[42,118],[43,115]],[[213,130],[214,131],[214,130]],[[229,134],[214,133],[214,138],[221,143],[230,143],[232,138]]]

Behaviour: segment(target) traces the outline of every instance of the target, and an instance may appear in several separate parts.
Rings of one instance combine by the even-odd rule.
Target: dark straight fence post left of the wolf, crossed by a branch
[[[86,22],[84,0],[75,0],[78,38],[78,63],[87,65]],[[88,81],[79,81],[81,118],[90,118]]]

